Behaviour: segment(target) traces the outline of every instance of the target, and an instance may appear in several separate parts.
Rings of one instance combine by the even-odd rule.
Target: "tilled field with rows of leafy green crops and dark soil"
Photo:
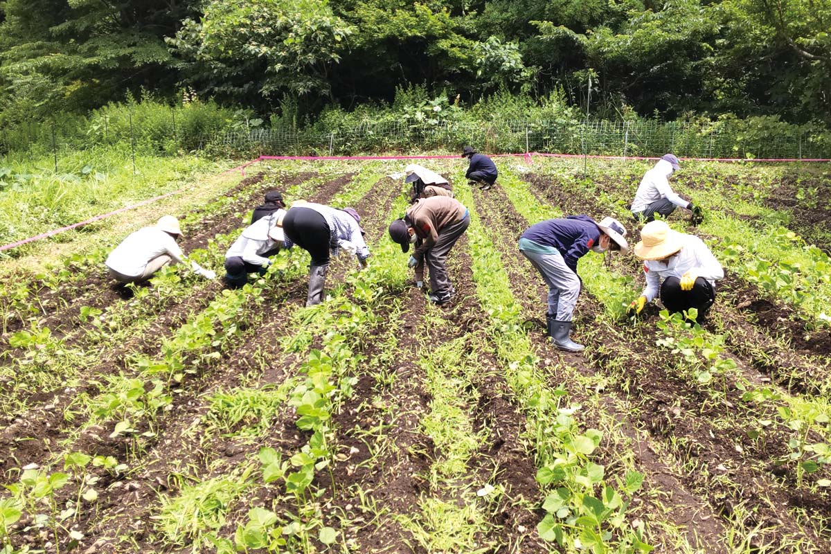
[[[703,219],[666,223],[723,267],[711,311],[632,315],[644,262],[588,252],[569,352],[520,235],[611,216],[634,246],[654,160],[494,157],[480,189],[458,153],[208,158],[0,186],[2,243],[174,193],[0,252],[0,554],[831,552],[828,164],[682,160]],[[449,302],[388,232],[411,161],[470,216]],[[342,245],[323,302],[294,239],[224,281],[273,190],[360,214],[371,256]],[[187,262],[118,284],[110,252],[165,214]]]

